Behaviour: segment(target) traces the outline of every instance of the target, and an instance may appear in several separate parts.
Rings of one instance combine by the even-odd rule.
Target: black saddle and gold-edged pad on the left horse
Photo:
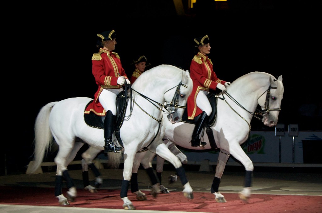
[[[125,90],[121,91],[116,96],[116,112],[117,113],[116,113],[116,121],[114,123],[114,133],[115,133],[115,136],[121,146],[123,146],[123,142],[121,140],[119,130],[121,129],[121,126],[124,121],[126,106],[128,104],[127,99],[128,99],[127,92],[125,92]],[[88,102],[85,109],[93,101],[94,100],[91,100],[90,102]],[[85,109],[84,109],[84,111],[85,111]],[[104,120],[105,120],[105,116],[99,116],[99,115],[94,114],[93,112],[90,112],[90,114],[84,114],[85,123],[88,126],[93,127],[93,128],[104,129]]]

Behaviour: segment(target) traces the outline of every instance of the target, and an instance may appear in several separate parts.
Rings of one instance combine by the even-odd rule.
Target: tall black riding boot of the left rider
[[[114,146],[114,143],[112,141],[115,118],[116,115],[113,115],[110,110],[106,112],[106,117],[104,120],[104,152],[117,152],[119,150],[122,150],[122,147]]]

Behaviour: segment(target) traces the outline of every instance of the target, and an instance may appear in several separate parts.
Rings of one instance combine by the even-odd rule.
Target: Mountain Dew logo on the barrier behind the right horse
[[[246,140],[245,143],[242,144],[242,149],[245,151],[246,154],[265,154],[264,144],[264,136],[259,134],[252,134],[250,135],[248,140]]]

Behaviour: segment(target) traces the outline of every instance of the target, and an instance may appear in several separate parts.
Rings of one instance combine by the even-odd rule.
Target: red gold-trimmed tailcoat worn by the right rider
[[[198,52],[191,61],[190,77],[194,82],[194,87],[187,100],[187,113],[188,119],[193,120],[195,116],[202,113],[196,103],[199,91],[209,91],[209,89],[216,90],[217,84],[225,84],[225,81],[217,78],[216,73],[213,72],[213,63],[208,56],[200,52]]]

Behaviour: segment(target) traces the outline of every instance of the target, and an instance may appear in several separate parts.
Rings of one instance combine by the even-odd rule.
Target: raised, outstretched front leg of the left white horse
[[[175,167],[181,183],[184,186],[184,196],[190,199],[194,198],[192,193],[193,190],[185,175],[185,169],[182,167],[181,161],[166,147],[166,144],[164,143],[161,143],[156,147],[156,154],[170,162]]]

